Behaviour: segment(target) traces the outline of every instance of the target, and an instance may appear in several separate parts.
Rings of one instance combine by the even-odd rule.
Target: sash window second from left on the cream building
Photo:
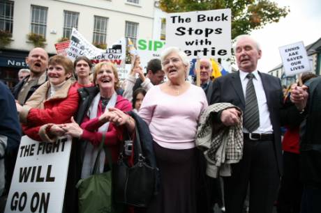
[[[45,38],[47,29],[48,8],[31,5],[31,33],[36,33]]]

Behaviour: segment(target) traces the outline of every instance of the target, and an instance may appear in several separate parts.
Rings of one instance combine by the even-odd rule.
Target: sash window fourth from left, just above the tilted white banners
[[[107,17],[94,16],[94,44],[105,44],[107,37]]]

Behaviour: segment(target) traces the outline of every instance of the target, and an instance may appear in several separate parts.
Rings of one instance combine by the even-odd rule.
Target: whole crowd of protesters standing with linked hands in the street
[[[63,212],[78,212],[75,185],[91,175],[101,141],[117,162],[123,141],[135,139],[133,111],[149,127],[159,189],[147,207],[124,212],[206,213],[217,203],[221,212],[241,213],[246,199],[251,213],[271,213],[274,205],[321,212],[321,78],[306,74],[283,95],[280,79],[257,70],[255,39],[238,36],[234,53],[239,71],[217,79],[202,58],[197,87],[186,80],[186,54],[168,47],[146,74],[137,57],[121,88],[110,62],[93,66],[85,56],[72,62],[32,49],[20,82],[11,91],[0,82],[0,195],[8,195],[22,135],[40,143],[70,136]],[[200,145],[198,137],[209,142]],[[110,169],[104,154],[98,160],[100,173]]]

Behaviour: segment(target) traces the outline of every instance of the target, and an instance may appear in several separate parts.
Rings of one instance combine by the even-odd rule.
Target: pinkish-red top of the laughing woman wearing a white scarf
[[[126,112],[132,110],[132,105],[127,99],[121,97],[121,95],[117,95],[115,108]],[[88,116],[84,117],[82,125],[80,125],[82,129],[84,129],[81,139],[90,141],[94,145],[98,145],[103,139],[103,134],[105,134],[105,144],[110,147],[110,150],[112,152],[112,161],[115,162],[117,161],[119,156],[119,143],[120,141],[123,141],[124,128],[116,128],[113,123],[110,123],[107,132],[98,132],[98,128],[100,127],[100,125],[98,125],[98,118],[101,114],[102,110],[100,101],[98,104],[97,118],[89,120]]]

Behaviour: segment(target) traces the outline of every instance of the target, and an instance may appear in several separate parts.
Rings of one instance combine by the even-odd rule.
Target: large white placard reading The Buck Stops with
[[[166,47],[179,47],[190,58],[230,58],[231,10],[168,13]]]

